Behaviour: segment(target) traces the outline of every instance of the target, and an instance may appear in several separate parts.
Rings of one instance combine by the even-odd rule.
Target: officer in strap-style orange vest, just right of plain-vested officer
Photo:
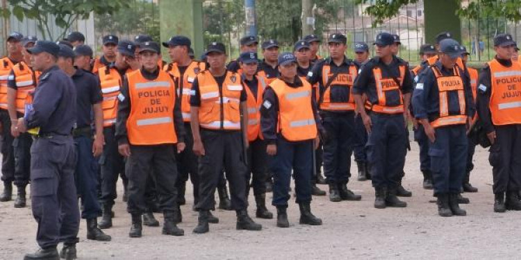
[[[329,184],[329,200],[361,200],[347,189],[354,137],[354,98],[351,94],[356,64],[345,57],[347,38],[341,33],[329,35],[329,58],[320,60],[308,75],[311,85],[319,83],[318,106],[324,124],[324,173]],[[348,159],[349,158],[349,159]]]

